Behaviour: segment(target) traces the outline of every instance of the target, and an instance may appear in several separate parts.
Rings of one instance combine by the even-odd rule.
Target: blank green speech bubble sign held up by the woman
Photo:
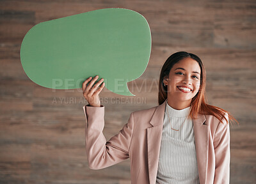
[[[134,96],[127,82],[143,74],[150,52],[147,20],[136,11],[107,8],[35,25],[22,41],[20,60],[42,87],[81,88],[97,74],[108,90]]]

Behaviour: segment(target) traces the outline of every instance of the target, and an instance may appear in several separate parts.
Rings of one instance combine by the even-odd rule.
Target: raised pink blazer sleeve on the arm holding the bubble
[[[129,158],[134,127],[133,114],[128,123],[106,142],[104,129],[104,106],[83,106],[86,117],[85,146],[90,169],[103,169]]]

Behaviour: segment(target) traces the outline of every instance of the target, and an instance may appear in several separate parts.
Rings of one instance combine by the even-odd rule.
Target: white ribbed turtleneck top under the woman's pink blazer
[[[175,110],[166,103],[156,184],[199,184],[193,122],[186,119],[190,109]]]

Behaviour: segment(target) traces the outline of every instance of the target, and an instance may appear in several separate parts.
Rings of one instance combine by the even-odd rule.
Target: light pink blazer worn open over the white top
[[[83,106],[89,167],[102,169],[130,158],[131,183],[155,184],[165,106],[166,101],[132,112],[128,123],[108,142],[102,134],[104,106]],[[229,183],[229,124],[221,124],[212,115],[198,115],[193,124],[200,184]]]

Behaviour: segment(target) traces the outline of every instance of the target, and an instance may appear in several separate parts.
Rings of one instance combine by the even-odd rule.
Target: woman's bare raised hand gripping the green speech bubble
[[[94,106],[94,107],[100,107],[99,93],[101,92],[101,90],[104,88],[104,85],[105,85],[104,82],[102,83],[102,81],[104,80],[102,78],[93,86],[93,84],[95,83],[95,81],[98,78],[99,78],[99,76],[95,76],[95,78],[93,78],[93,80],[92,80],[92,77],[86,79],[83,82],[83,87],[82,87],[84,98],[90,104],[90,106]],[[92,80],[92,81],[90,81],[90,80]],[[90,81],[90,83],[87,85],[87,83],[89,81]],[[100,83],[102,83],[102,85],[100,85]],[[99,87],[99,85],[100,85],[100,87]],[[99,88],[97,89],[97,87],[99,87]]]

